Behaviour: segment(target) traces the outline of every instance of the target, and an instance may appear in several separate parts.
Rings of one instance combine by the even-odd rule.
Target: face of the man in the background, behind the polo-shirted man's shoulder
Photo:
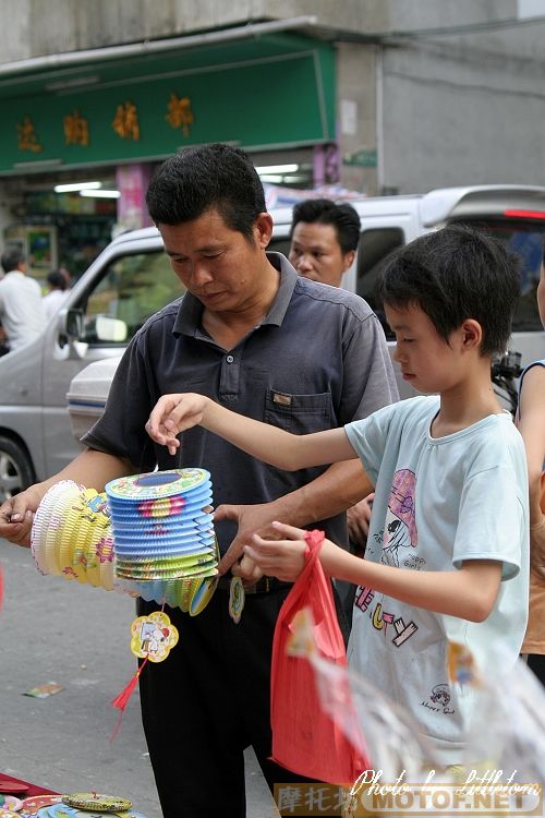
[[[293,228],[289,260],[305,278],[340,287],[354,255],[353,250],[342,252],[332,225],[299,221]]]

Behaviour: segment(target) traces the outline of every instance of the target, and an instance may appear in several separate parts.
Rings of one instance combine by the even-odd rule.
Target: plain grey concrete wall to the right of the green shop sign
[[[385,46],[384,184],[545,184],[544,38],[545,22]]]

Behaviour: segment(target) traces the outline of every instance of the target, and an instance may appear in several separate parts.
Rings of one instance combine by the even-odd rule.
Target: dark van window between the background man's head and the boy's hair
[[[388,339],[393,338],[393,334],[376,294],[376,282],[388,255],[404,243],[405,237],[400,227],[377,227],[363,230],[358,249],[355,291],[376,312]]]

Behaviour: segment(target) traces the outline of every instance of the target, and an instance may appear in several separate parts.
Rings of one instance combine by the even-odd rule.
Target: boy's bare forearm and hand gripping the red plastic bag
[[[245,553],[265,575],[293,581],[304,565],[305,532],[275,522],[277,532],[288,539],[264,540],[257,534]],[[489,615],[501,581],[501,563],[488,560],[467,561],[459,570],[403,570],[372,563],[348,553],[330,540],[324,540],[319,554],[326,574],[435,613],[483,622]]]

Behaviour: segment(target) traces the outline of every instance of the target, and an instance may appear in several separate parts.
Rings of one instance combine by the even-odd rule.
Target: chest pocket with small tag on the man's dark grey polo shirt
[[[336,425],[331,395],[294,395],[268,388],[265,400],[265,423],[293,434],[322,432]]]

